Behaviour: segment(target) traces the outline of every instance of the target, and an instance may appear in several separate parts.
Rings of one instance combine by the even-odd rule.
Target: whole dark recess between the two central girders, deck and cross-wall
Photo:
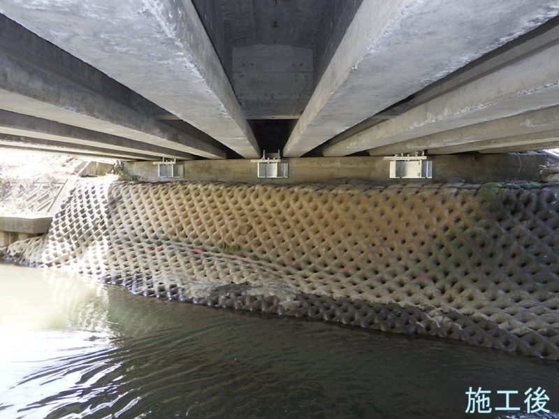
[[[324,72],[361,1],[194,0],[193,3],[233,82],[245,116],[285,119],[303,112],[314,84]],[[256,55],[248,57],[259,62],[249,68],[245,83],[240,83],[240,75],[247,73],[247,68],[242,66],[246,60],[239,56],[245,56],[250,50],[261,59],[257,60]],[[293,50],[300,50],[298,57],[293,57]],[[310,63],[305,57],[309,54]],[[304,70],[295,67],[301,64],[300,58],[303,58]],[[279,64],[273,75],[267,63]],[[309,74],[309,64],[312,74]],[[249,84],[247,79],[254,83]],[[288,93],[291,101],[285,97]]]

